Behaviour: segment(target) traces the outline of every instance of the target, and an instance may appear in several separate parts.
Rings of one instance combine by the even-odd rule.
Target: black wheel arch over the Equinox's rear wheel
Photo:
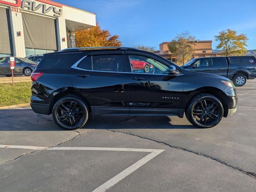
[[[91,105],[89,99],[74,90],[66,90],[66,91],[62,91],[62,92],[59,92],[58,94],[54,95],[50,101],[49,111],[52,112],[52,108],[53,108],[54,104],[60,98],[65,97],[65,96],[73,96],[73,97],[76,97],[76,98],[82,100],[88,106],[88,111],[93,112],[93,109],[91,108],[92,105]]]

